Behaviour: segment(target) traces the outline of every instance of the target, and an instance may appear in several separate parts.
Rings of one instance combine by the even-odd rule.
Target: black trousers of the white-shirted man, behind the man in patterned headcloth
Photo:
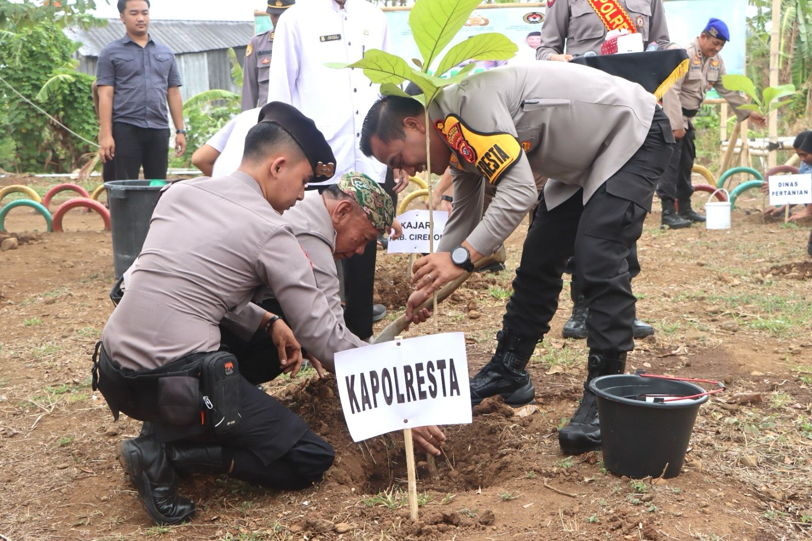
[[[387,169],[383,189],[392,198],[395,209],[398,196],[393,191],[395,178]],[[372,300],[375,284],[375,259],[378,256],[378,240],[371,240],[364,253],[356,253],[342,262],[344,271],[344,322],[352,334],[366,340],[372,335]]]

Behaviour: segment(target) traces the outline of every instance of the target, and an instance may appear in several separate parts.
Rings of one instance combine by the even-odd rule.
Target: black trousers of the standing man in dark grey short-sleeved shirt
[[[169,128],[139,128],[113,123],[115,180],[135,180],[144,166],[146,180],[166,179],[169,164]]]

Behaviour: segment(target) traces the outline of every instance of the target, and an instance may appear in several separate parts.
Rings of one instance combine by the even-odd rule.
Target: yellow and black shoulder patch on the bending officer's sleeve
[[[509,133],[480,133],[466,126],[455,115],[434,121],[434,128],[459,154],[458,159],[473,163],[490,184],[498,184],[505,171],[521,158],[521,145]],[[454,161],[453,157],[451,161]]]

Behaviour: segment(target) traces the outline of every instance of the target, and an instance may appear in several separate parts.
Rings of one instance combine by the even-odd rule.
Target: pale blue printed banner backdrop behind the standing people
[[[728,73],[744,73],[747,0],[666,0],[664,6],[671,40],[680,45],[687,45],[697,37],[711,17],[722,19],[728,24],[730,42],[724,46],[722,58]],[[408,9],[384,8],[383,11],[389,20],[392,50],[402,58],[420,58],[420,51],[414,44],[412,31],[408,26]],[[527,35],[542,29],[545,11],[546,2],[480,6],[473,11],[448,48],[478,32],[502,32],[519,46],[516,58],[508,64],[532,61],[535,55],[533,48],[527,44]],[[443,58],[443,54],[438,58]],[[493,66],[479,63],[474,71],[482,71],[488,67]],[[451,72],[454,73],[453,70]]]

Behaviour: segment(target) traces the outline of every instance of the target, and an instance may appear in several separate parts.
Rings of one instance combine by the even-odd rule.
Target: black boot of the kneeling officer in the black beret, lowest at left
[[[119,444],[119,462],[138,489],[138,499],[158,525],[179,524],[195,516],[192,500],[178,496],[178,474],[164,444],[140,436]]]

